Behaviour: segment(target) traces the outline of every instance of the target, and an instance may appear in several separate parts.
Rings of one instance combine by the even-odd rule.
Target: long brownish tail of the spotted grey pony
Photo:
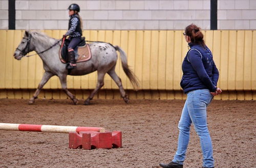
[[[134,72],[129,68],[127,64],[127,57],[126,53],[117,45],[114,46],[117,51],[120,52],[120,58],[122,62],[122,68],[126,76],[130,79],[133,87],[135,90],[139,89],[139,82],[137,76],[134,74]]]

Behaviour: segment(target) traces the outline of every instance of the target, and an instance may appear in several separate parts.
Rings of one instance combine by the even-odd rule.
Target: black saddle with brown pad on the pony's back
[[[81,42],[74,48],[75,60],[77,63],[88,61],[91,59],[91,49],[89,44],[86,44],[85,37],[82,37]],[[62,63],[66,64],[68,62],[68,45],[70,41],[65,39],[64,44],[61,44],[59,49],[59,59]]]

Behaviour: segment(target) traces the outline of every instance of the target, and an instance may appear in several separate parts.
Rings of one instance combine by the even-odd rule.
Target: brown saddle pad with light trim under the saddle
[[[90,60],[91,57],[92,57],[92,54],[91,54],[91,49],[90,49],[89,44],[78,47],[77,54],[78,55],[76,55],[76,57],[75,57],[75,58],[77,58],[76,59],[77,63]],[[59,52],[59,59],[62,63],[67,63],[67,61],[62,58],[61,49],[60,49],[60,52]]]

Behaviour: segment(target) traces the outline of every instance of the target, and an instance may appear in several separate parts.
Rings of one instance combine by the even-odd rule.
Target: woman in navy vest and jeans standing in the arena
[[[212,143],[207,128],[206,107],[215,95],[222,91],[217,88],[219,71],[212,59],[212,53],[205,45],[203,34],[195,24],[186,27],[185,40],[190,49],[182,63],[181,88],[187,94],[179,121],[178,149],[172,162],[160,163],[161,167],[183,167],[190,126],[193,123],[200,138],[203,153],[203,167],[214,167]]]

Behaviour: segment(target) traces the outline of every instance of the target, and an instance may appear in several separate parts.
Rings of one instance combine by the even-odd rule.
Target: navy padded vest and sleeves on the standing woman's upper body
[[[209,89],[215,92],[219,79],[219,71],[207,46],[188,43],[188,50],[182,63],[182,79],[180,86],[184,93],[197,89]]]

